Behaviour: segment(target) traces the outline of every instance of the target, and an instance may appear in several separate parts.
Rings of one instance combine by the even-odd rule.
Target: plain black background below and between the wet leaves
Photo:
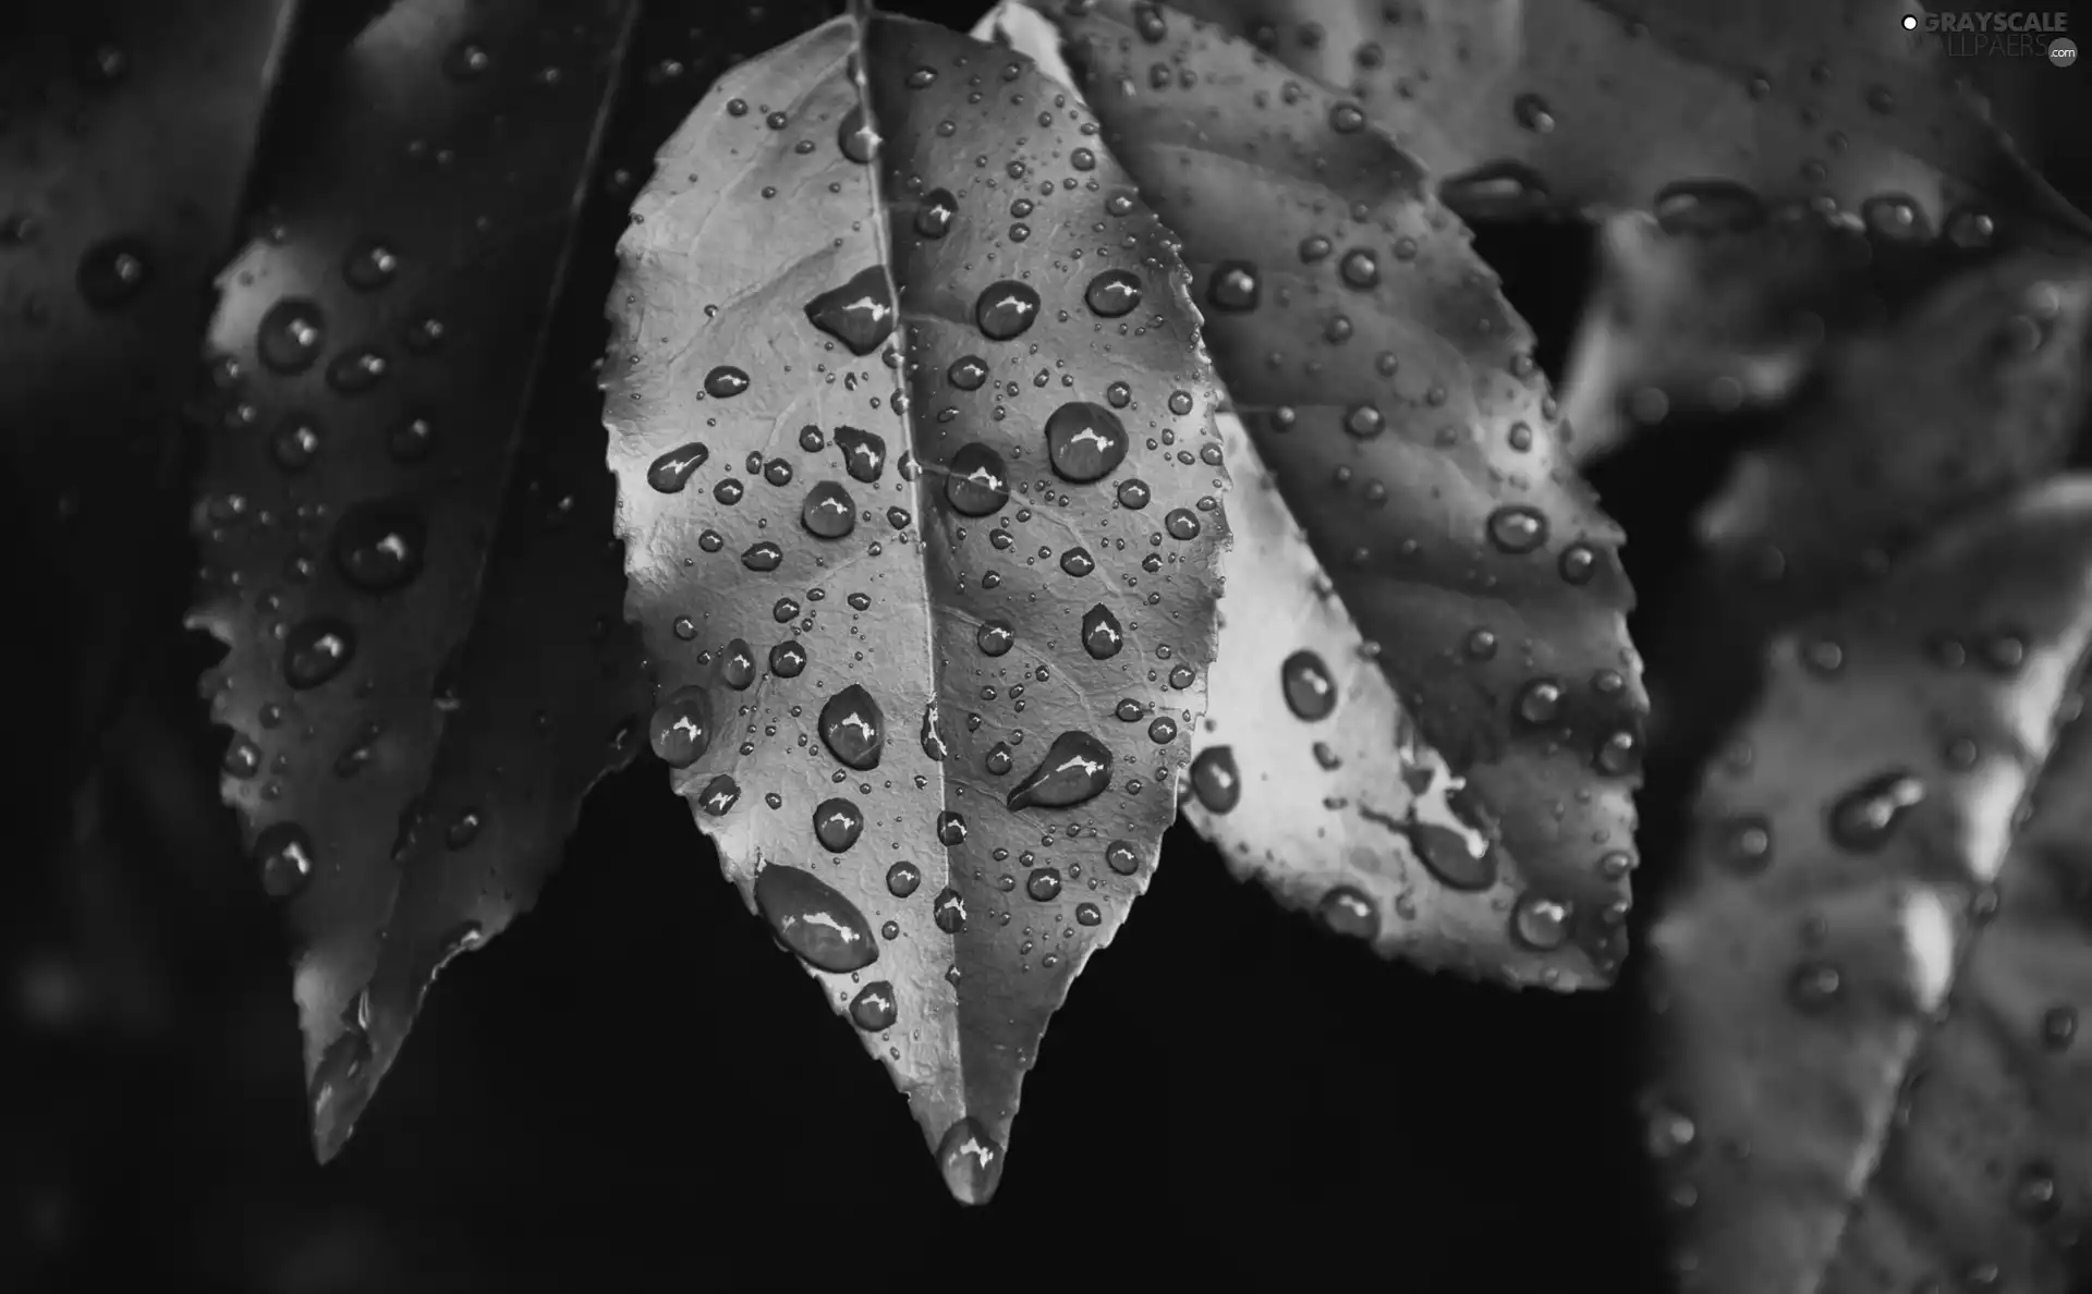
[[[730,6],[688,8],[713,33],[669,48],[663,27],[649,59],[709,77],[759,52],[736,44]],[[962,27],[981,4],[893,8]],[[2052,157],[2086,119],[2092,71],[1975,71],[2092,207],[2084,163]],[[644,161],[609,157],[605,190],[630,197]],[[569,293],[584,309],[621,224],[609,207]],[[1559,374],[1588,232],[1479,236]],[[1684,577],[1686,518],[1726,445],[1676,429],[1598,470],[1644,608]],[[1657,619],[1638,638],[1661,671]],[[287,949],[218,803],[226,736],[195,700],[215,648],[167,625],[140,644],[86,788],[36,792],[73,796],[73,838],[25,830],[4,863],[0,1290],[142,1273],[257,1294],[634,1277],[1019,1290],[1238,1284],[1243,1263],[1308,1286],[1665,1286],[1632,968],[1615,993],[1556,997],[1383,964],[1230,880],[1180,826],[1054,1020],[1000,1194],[962,1210],[885,1070],[722,882],[651,759],[596,790],[540,907],[446,970],[356,1139],[320,1169]],[[38,633],[67,650],[63,625]],[[23,727],[15,746],[36,761]],[[1644,909],[1680,786],[1655,769]]]

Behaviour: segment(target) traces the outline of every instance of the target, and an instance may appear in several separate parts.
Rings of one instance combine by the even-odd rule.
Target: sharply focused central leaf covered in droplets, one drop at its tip
[[[1027,61],[889,17],[724,77],[621,255],[655,750],[985,1202],[1205,709],[1228,477],[1182,268]]]

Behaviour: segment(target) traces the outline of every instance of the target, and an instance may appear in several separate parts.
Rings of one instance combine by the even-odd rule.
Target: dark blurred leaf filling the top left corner
[[[0,445],[15,598],[69,784],[184,562],[176,414],[293,0],[0,17]],[[165,569],[163,569],[165,567]],[[23,613],[23,625],[31,613]],[[42,742],[40,742],[42,744]],[[54,788],[63,794],[63,788]]]

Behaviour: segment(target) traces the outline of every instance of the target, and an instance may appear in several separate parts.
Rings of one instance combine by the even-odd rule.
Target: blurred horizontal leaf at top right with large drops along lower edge
[[[1186,0],[1358,96],[1466,217],[1910,199],[1933,222],[2092,232],[1954,77],[1906,0]],[[1954,15],[1950,15],[1954,17]],[[2031,40],[2031,38],[2027,38]],[[2040,38],[2046,44],[2046,36]],[[2031,52],[2027,46],[2023,52]]]

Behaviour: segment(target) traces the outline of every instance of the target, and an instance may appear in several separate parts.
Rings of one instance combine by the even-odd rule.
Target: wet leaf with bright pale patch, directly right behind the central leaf
[[[1282,893],[1328,895],[1339,876],[1393,891],[1377,914],[1318,897],[1383,949],[1513,983],[1605,980],[1644,698],[1619,531],[1563,460],[1531,332],[1356,109],[1163,8],[1061,13],[1105,140],[1184,240],[1213,364],[1341,600],[1287,619],[1314,575],[1259,544],[1274,562],[1249,569],[1241,613],[1261,621],[1243,650],[1257,673],[1213,715],[1245,736],[1195,761],[1195,819]],[[1268,529],[1287,539],[1276,516]],[[1314,755],[1326,688],[1308,675],[1339,698],[1358,681],[1343,619],[1391,696],[1337,711],[1331,769]],[[1293,671],[1297,650],[1314,661]],[[1477,838],[1496,849],[1475,857]]]

